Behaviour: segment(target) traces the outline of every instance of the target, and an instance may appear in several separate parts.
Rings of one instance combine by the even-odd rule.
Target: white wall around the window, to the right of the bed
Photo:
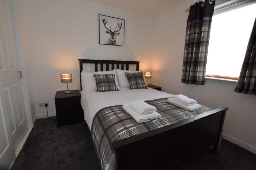
[[[155,18],[151,83],[173,94],[185,94],[199,103],[217,108],[227,106],[224,132],[256,151],[256,96],[234,92],[234,84],[206,81],[204,86],[181,83],[186,21],[184,12],[194,0]],[[227,65],[228,68],[228,65]]]

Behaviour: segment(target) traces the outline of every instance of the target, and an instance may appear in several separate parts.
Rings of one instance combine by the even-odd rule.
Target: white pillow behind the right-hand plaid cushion
[[[117,79],[118,79],[118,82],[119,82],[119,85],[121,88],[129,88],[130,87],[129,81],[124,74],[125,72],[133,73],[133,72],[143,72],[143,71],[126,71],[126,70],[116,69]],[[144,82],[147,86],[144,72],[143,72],[143,78],[144,78]]]

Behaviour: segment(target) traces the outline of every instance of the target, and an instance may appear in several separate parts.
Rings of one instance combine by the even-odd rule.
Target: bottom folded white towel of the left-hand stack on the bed
[[[160,118],[162,117],[159,113],[157,112],[153,112],[151,114],[145,114],[145,115],[141,115],[139,113],[137,113],[135,110],[133,110],[130,105],[128,103],[125,103],[123,105],[123,109],[129,113],[135,120],[136,122],[147,122],[147,121],[150,121],[150,120],[153,120],[153,119],[157,119],[157,118]]]

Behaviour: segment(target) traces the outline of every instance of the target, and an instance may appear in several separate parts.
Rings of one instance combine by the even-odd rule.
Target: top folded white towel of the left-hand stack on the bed
[[[155,106],[149,105],[143,100],[129,102],[130,107],[139,114],[150,114],[157,110]]]

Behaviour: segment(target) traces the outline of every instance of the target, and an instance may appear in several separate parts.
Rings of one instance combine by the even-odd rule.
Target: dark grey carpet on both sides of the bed
[[[57,128],[56,118],[51,117],[37,120],[12,169],[100,167],[86,123]],[[172,169],[256,169],[256,155],[222,140],[217,155],[204,149]]]

